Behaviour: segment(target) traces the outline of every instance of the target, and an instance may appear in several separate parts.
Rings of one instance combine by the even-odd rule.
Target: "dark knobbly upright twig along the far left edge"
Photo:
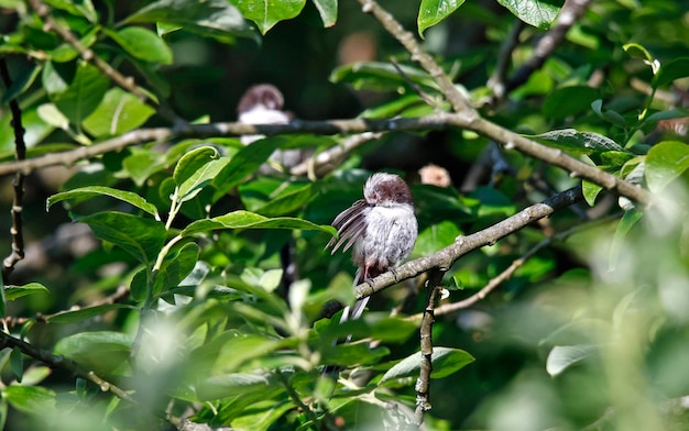
[[[4,57],[0,57],[0,77],[7,89],[12,87],[12,78],[10,77],[10,70],[8,69],[7,59]],[[24,128],[22,126],[22,110],[19,107],[17,98],[10,100],[10,111],[12,112],[12,129],[14,130],[14,158],[21,162],[26,158],[26,144],[24,143]],[[12,252],[2,262],[2,280],[4,284],[9,283],[10,274],[14,270],[14,265],[24,258],[24,233],[22,229],[24,199],[23,173],[14,173],[12,187],[14,188],[11,210],[12,228],[10,228],[10,233],[12,234]]]

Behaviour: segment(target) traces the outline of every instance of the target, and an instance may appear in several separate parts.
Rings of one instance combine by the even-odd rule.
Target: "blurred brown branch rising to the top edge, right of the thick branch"
[[[510,77],[503,95],[510,93],[526,82],[532,74],[543,66],[555,48],[562,43],[569,29],[583,15],[590,2],[591,0],[565,1],[556,24],[538,41],[534,55]]]

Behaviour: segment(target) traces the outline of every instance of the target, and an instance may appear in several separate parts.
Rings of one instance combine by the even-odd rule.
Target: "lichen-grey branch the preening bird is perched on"
[[[458,236],[453,244],[424,257],[398,266],[393,272],[383,273],[356,287],[357,299],[371,296],[378,291],[405,280],[416,277],[429,269],[449,269],[461,256],[480,248],[484,245],[493,245],[499,240],[527,226],[528,224],[549,217],[555,211],[567,208],[583,199],[581,188],[576,187],[553,196],[540,203],[533,205],[517,212],[516,214],[493,224],[482,231],[467,236]]]

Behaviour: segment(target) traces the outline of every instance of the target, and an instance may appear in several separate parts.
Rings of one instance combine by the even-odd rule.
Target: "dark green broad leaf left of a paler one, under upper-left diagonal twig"
[[[52,95],[52,99],[55,107],[78,126],[98,107],[108,87],[110,80],[96,66],[79,62],[69,87],[61,93]]]

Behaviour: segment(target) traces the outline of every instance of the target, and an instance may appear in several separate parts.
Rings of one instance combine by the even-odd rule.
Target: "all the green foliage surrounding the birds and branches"
[[[3,343],[1,427],[164,429],[165,415],[238,430],[409,422],[426,276],[374,295],[362,319],[339,324],[329,306],[354,300],[354,268],[347,254],[322,251],[335,216],[384,169],[412,186],[419,236],[411,258],[482,229],[508,230],[453,265],[442,262],[450,296],[433,327],[428,428],[687,428],[686,2],[591,2],[543,67],[502,100],[494,81],[506,85],[532,58],[561,1],[422,0],[417,13],[393,3],[383,5],[407,30],[416,23],[423,48],[480,115],[637,185],[652,205],[526,158],[507,137],[500,150],[468,130],[391,126],[330,161],[326,174],[309,164],[297,177],[275,169],[276,151],[317,158],[348,136],[285,134],[244,146],[223,124],[194,134],[178,121],[231,120],[240,92],[264,80],[281,85],[296,118],[370,124],[451,111],[437,77],[358,18],[360,7],[45,1],[75,46],[28,4],[2,1],[17,23],[0,41],[13,77],[0,99],[2,166],[13,158],[12,100],[29,157],[83,156],[68,179],[41,172],[25,183],[24,233],[42,252],[0,286],[0,316],[4,332],[40,354]],[[505,54],[515,20],[529,26]],[[357,55],[348,56],[349,37]],[[116,85],[94,58],[131,86]],[[505,78],[494,74],[499,60]],[[142,128],[169,128],[175,137],[144,142]],[[102,143],[112,146],[99,151]],[[416,170],[428,161],[451,185],[420,184]],[[529,218],[520,231],[497,224],[578,185],[594,208]],[[90,245],[61,236],[68,218],[89,228]],[[3,236],[3,253],[11,241]],[[470,309],[440,311],[477,294]],[[351,343],[336,343],[347,336]],[[63,368],[69,364],[79,369]],[[328,365],[342,368],[339,379],[324,374]],[[89,372],[107,384],[87,380]]]

